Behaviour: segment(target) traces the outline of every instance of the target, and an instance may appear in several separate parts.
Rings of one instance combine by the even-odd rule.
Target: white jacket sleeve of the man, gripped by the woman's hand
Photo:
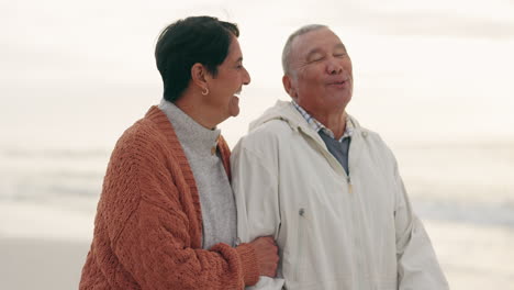
[[[247,148],[245,140],[232,153],[232,187],[237,205],[237,235],[242,242],[250,242],[259,236],[278,238],[280,208],[278,166],[275,160]],[[282,286],[281,278],[261,276],[256,286],[247,289],[279,290]]]

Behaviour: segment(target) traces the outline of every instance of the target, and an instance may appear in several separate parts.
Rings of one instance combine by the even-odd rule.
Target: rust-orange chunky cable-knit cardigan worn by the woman
[[[217,148],[228,177],[230,149]],[[202,249],[202,215],[188,159],[157,107],[111,155],[80,289],[243,289],[258,280],[254,248]]]

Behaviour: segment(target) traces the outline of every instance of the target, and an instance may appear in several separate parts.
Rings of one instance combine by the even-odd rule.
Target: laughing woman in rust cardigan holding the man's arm
[[[166,27],[155,57],[164,99],[112,153],[80,289],[242,289],[273,277],[272,238],[236,243],[230,149],[216,125],[250,77],[235,24]]]

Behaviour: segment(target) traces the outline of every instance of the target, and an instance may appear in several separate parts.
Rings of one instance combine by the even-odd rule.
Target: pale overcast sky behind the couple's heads
[[[287,99],[281,48],[308,23],[328,24],[348,47],[356,83],[349,110],[371,129],[392,137],[422,131],[514,140],[514,1],[245,2],[2,0],[2,142],[33,142],[43,125],[115,140],[160,98],[153,55],[159,31],[199,14],[242,31],[253,80],[242,115],[222,125],[231,145],[275,100]]]

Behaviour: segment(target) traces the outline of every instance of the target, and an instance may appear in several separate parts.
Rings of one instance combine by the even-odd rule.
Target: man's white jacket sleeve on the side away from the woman
[[[421,220],[413,213],[394,161],[396,205],[394,211],[400,290],[444,290],[448,282]]]

